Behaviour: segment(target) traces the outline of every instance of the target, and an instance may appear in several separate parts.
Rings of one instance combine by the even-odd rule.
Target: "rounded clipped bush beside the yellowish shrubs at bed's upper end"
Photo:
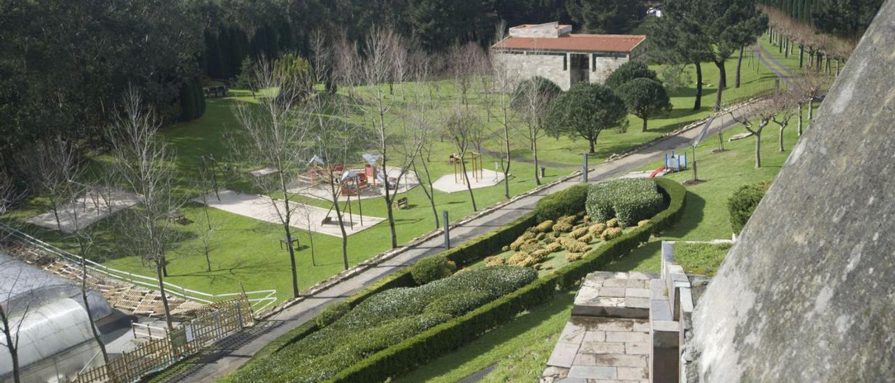
[[[587,192],[587,214],[595,222],[618,219],[620,226],[656,215],[662,209],[662,195],[650,179],[620,179],[594,183]],[[607,222],[607,226],[609,222]]]

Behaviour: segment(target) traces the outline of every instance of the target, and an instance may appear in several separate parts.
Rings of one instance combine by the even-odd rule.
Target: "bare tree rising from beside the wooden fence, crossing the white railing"
[[[174,328],[168,307],[164,277],[166,251],[176,241],[172,212],[183,206],[175,196],[174,152],[157,132],[160,123],[151,109],[142,104],[140,95],[130,89],[124,96],[119,115],[107,129],[110,153],[114,157],[116,181],[132,192],[139,207],[124,218],[123,229],[133,251],[149,259],[156,268],[158,291],[161,294],[168,328]]]

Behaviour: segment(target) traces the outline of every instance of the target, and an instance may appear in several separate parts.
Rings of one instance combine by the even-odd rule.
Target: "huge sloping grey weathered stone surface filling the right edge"
[[[895,379],[893,20],[883,3],[696,305],[690,381]]]

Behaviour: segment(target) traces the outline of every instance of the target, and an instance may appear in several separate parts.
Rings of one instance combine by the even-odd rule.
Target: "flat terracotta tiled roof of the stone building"
[[[558,38],[504,38],[495,49],[555,50],[575,52],[630,52],[644,35],[589,35],[566,33]]]

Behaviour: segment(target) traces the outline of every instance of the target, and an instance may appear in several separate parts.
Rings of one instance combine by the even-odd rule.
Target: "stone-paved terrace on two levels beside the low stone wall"
[[[588,275],[541,382],[649,382],[653,277],[644,273]]]

